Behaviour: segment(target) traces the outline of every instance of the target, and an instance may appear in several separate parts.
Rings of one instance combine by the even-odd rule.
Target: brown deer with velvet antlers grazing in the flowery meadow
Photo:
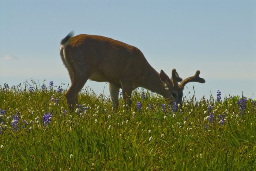
[[[113,110],[118,107],[120,88],[123,90],[125,104],[129,105],[132,90],[138,87],[180,102],[184,86],[188,82],[205,82],[199,77],[199,70],[184,81],[178,76],[176,69],[172,70],[171,79],[163,70],[159,74],[147,62],[143,53],[129,44],[103,36],[73,35],[74,32],[70,32],[60,43],[60,56],[71,79],[71,86],[65,93],[70,112],[78,104],[78,93],[88,79],[109,82]]]

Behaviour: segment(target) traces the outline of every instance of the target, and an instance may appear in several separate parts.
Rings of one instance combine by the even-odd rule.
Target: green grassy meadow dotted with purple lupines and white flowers
[[[256,101],[242,94],[169,105],[136,89],[113,113],[87,87],[71,114],[62,85],[31,81],[0,87],[1,171],[256,170]]]

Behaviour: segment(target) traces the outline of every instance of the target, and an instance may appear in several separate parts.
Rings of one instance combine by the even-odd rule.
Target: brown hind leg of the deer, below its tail
[[[71,79],[71,86],[65,93],[69,112],[72,113],[74,111],[74,106],[78,104],[78,93],[82,90],[84,84],[89,79],[89,77],[90,75],[87,75],[87,77],[73,77]]]

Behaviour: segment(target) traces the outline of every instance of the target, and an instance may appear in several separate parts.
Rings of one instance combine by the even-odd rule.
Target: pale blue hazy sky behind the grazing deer
[[[206,83],[188,83],[184,95],[256,94],[256,3],[252,0],[1,0],[0,85],[46,79],[70,83],[60,41],[101,35],[138,47],[151,66],[185,79],[200,70]],[[104,82],[87,81],[109,94]],[[64,86],[64,87],[65,87]],[[105,87],[105,89],[104,89]],[[193,95],[193,93],[191,93]]]

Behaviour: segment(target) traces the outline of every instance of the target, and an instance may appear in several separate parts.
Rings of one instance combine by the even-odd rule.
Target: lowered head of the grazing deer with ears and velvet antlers
[[[182,96],[183,96],[183,89],[184,86],[189,82],[199,82],[204,83],[205,80],[203,78],[199,77],[200,71],[197,70],[196,74],[192,77],[188,77],[182,81],[182,78],[179,77],[178,73],[176,72],[176,69],[172,70],[172,77],[171,79],[168,77],[168,75],[161,70],[160,72],[160,79],[163,83],[165,83],[166,93],[164,97],[169,98],[172,100],[172,102],[181,102]],[[178,84],[178,82],[181,82]]]

